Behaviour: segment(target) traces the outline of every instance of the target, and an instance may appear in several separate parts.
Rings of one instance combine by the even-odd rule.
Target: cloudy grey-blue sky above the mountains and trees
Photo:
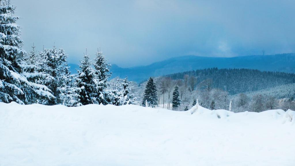
[[[232,57],[295,49],[294,0],[12,0],[24,49],[53,43],[78,63],[97,47],[122,67],[183,55]],[[130,60],[132,59],[132,60]]]

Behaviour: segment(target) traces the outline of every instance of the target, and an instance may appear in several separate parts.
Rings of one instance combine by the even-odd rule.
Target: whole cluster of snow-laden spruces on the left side
[[[86,53],[78,74],[71,74],[68,55],[53,46],[27,53],[20,36],[19,17],[10,1],[0,1],[0,102],[19,104],[135,104],[136,97],[126,77],[108,83],[111,65],[97,51],[94,62]]]

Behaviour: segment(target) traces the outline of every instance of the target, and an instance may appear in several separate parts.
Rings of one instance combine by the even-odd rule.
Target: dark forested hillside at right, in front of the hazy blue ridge
[[[183,79],[185,75],[197,77],[196,84],[211,79],[212,87],[226,90],[230,94],[267,89],[295,83],[295,74],[283,72],[261,72],[253,69],[201,69],[170,74],[165,77]]]

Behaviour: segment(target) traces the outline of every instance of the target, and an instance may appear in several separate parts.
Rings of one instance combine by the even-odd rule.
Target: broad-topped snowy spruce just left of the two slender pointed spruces
[[[68,55],[65,54],[63,49],[57,49],[53,46],[53,49],[45,49],[43,52],[40,52],[40,57],[44,58],[43,62],[40,64],[41,70],[49,74],[49,76],[43,80],[42,84],[46,85],[55,96],[54,100],[45,101],[43,104],[60,104],[62,103],[60,99],[60,88],[64,87],[65,64]]]

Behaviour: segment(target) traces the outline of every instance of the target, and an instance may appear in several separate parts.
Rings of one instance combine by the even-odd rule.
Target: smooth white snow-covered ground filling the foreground
[[[0,103],[0,165],[294,166],[295,114]]]

